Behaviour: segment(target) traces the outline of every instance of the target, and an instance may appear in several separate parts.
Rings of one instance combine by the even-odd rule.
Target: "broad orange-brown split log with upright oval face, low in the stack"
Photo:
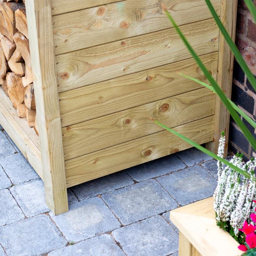
[[[9,98],[14,107],[17,108],[24,101],[25,88],[22,84],[22,78],[12,72],[8,72],[6,75],[6,86]]]

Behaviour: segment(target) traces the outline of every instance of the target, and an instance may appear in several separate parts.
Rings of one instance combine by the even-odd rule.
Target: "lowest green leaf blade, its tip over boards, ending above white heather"
[[[184,140],[185,142],[191,144],[191,146],[199,149],[200,151],[202,151],[203,153],[206,153],[207,155],[210,155],[210,157],[224,163],[225,165],[229,166],[230,168],[232,168],[233,170],[237,171],[238,173],[241,173],[242,175],[244,175],[246,178],[251,178],[250,174],[245,172],[244,170],[241,170],[240,168],[238,168],[237,166],[233,165],[232,163],[230,163],[229,161],[227,161],[224,158],[219,157],[218,155],[212,153],[210,150],[207,150],[206,148],[202,147],[201,145],[197,144],[196,142],[194,142],[193,140],[183,136],[182,134],[174,131],[173,129],[165,126],[164,124],[161,124],[160,122],[158,122],[157,120],[153,120],[156,124],[158,124],[159,126],[161,126],[162,128],[166,129],[167,131],[173,133],[174,135],[178,136],[179,138],[181,138],[182,140]]]

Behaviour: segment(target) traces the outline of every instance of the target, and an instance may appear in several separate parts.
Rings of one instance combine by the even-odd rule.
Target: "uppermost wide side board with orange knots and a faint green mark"
[[[206,3],[162,0],[178,25],[210,19]],[[203,3],[203,4],[202,4]],[[221,0],[212,0],[219,12]],[[67,53],[172,27],[159,0],[127,0],[53,17],[55,53]]]

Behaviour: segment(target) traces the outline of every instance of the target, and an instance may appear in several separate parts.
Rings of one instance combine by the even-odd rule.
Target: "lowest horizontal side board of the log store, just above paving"
[[[154,125],[154,124],[152,124]],[[212,140],[214,116],[176,127],[175,130],[202,144]],[[93,180],[191,147],[167,131],[65,161],[67,187]]]

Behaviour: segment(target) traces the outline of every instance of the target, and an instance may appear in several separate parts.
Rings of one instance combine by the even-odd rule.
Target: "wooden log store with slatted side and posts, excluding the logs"
[[[204,1],[26,0],[39,139],[1,89],[0,123],[55,214],[67,187],[190,147],[148,116],[212,151],[228,132],[215,95],[178,75],[206,80],[159,2],[230,96],[233,58]],[[234,37],[236,1],[212,4]]]

